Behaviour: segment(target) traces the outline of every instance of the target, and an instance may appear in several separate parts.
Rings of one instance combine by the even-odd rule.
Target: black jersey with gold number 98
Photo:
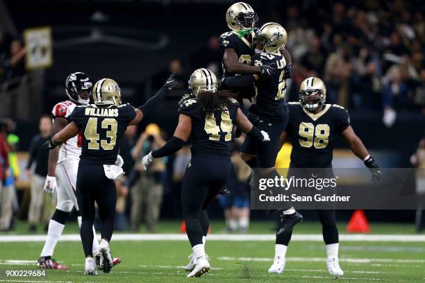
[[[299,103],[290,103],[289,117],[285,132],[292,137],[291,166],[331,166],[335,137],[350,125],[347,110],[340,105],[325,104],[321,112],[313,114]]]

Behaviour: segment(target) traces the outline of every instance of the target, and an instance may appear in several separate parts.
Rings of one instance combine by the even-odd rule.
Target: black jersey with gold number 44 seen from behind
[[[192,119],[192,155],[231,155],[232,130],[238,108],[239,103],[233,98],[227,108],[213,113],[201,110],[194,98],[181,102],[178,112]]]

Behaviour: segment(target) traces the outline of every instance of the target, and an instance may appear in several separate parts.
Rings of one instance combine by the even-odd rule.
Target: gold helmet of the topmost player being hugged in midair
[[[256,12],[247,3],[234,3],[227,9],[226,22],[232,31],[249,30],[256,26],[257,21]]]

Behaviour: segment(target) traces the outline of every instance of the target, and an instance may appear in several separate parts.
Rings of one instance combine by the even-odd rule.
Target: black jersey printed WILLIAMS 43
[[[70,121],[80,129],[80,164],[114,164],[124,131],[134,117],[135,109],[128,103],[109,108],[94,104],[75,108]]]

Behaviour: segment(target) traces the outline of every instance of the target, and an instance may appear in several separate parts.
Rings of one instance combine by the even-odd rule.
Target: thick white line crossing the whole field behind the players
[[[0,235],[1,242],[44,242],[46,235]],[[98,236],[99,238],[99,236]],[[274,234],[210,234],[208,241],[274,241]],[[63,234],[60,241],[81,241],[80,234]],[[186,234],[114,234],[113,241],[188,241]],[[322,234],[294,234],[291,241],[323,241]],[[340,241],[425,242],[425,235],[341,234]]]

